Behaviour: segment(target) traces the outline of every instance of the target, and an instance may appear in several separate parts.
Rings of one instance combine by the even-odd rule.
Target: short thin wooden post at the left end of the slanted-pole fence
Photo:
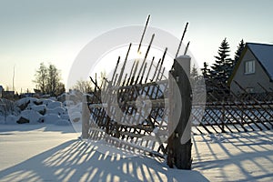
[[[89,130],[89,117],[90,112],[87,105],[86,95],[82,97],[82,138],[88,138],[88,130]]]

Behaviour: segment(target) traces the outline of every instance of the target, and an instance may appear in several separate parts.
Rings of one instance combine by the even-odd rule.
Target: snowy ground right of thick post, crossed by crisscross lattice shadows
[[[194,168],[203,174],[215,170],[217,177],[232,181],[273,180],[272,131],[199,136],[199,140],[195,137],[193,147],[197,161]],[[209,154],[202,155],[202,151]]]

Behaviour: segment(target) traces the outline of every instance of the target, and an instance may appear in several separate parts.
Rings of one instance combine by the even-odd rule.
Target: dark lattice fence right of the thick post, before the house
[[[235,94],[221,83],[207,83],[207,87],[214,88],[207,92],[207,103],[199,103],[192,109],[195,133],[233,133],[273,128],[272,92],[265,90],[265,93],[253,94],[237,82],[236,85],[243,94]],[[202,105],[205,105],[205,112],[200,112]]]

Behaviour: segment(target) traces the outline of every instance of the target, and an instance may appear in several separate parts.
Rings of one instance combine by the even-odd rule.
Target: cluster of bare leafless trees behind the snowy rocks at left
[[[45,66],[40,63],[35,71],[35,92],[43,95],[59,96],[66,92],[65,85],[61,82],[61,72],[53,64]]]

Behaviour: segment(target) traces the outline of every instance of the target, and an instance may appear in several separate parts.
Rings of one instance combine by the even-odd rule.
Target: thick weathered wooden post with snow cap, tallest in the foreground
[[[190,57],[179,56],[169,72],[169,118],[167,165],[191,169],[191,86]]]

